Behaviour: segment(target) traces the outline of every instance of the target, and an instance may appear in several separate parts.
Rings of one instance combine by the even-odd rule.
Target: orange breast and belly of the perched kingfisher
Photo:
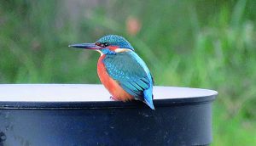
[[[97,72],[100,80],[104,87],[108,89],[108,92],[112,94],[113,98],[121,101],[127,101],[133,99],[133,97],[125,92],[125,90],[119,86],[118,82],[113,80],[105,68],[105,65],[102,62],[102,59],[105,58],[105,54],[100,57],[97,64]]]

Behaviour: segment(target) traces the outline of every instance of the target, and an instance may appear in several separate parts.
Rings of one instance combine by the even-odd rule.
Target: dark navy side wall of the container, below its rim
[[[3,109],[0,145],[207,145],[211,102],[139,108]]]

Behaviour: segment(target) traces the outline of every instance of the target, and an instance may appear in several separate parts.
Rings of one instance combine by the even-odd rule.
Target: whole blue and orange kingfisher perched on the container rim
[[[72,44],[68,47],[95,50],[101,54],[97,73],[104,87],[119,101],[143,101],[152,110],[153,77],[131,43],[117,35],[103,36],[94,43]]]

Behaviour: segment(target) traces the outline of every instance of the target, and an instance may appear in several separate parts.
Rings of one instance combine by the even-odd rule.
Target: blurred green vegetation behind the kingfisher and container
[[[0,83],[100,83],[99,54],[125,36],[159,86],[217,90],[212,145],[256,145],[256,1],[0,1]]]

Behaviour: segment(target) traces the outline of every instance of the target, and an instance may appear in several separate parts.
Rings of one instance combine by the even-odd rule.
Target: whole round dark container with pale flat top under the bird
[[[111,101],[102,85],[0,85],[0,146],[208,145],[218,93],[154,87],[151,110]]]

